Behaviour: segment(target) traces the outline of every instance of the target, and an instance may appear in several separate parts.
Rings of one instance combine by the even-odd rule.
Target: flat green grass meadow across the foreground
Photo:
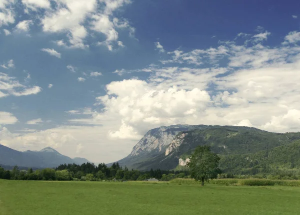
[[[297,215],[300,188],[0,180],[0,215]]]

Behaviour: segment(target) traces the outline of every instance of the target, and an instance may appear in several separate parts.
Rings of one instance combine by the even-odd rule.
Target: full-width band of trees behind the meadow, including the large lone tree
[[[33,171],[29,168],[27,171],[20,170],[15,166],[11,171],[0,167],[0,179],[7,180],[30,180],[30,181],[143,181],[149,178],[156,178],[159,181],[170,181],[174,178],[192,178],[201,181],[209,179],[222,178],[265,178],[265,179],[300,179],[300,170],[276,169],[270,173],[266,167],[263,171],[257,167],[250,169],[240,169],[236,165],[235,170],[244,174],[234,174],[226,168],[219,169],[221,158],[212,153],[209,146],[198,146],[190,157],[186,170],[160,170],[151,169],[150,171],[129,170],[126,166],[122,168],[118,163],[113,163],[107,167],[104,163],[95,166],[93,163],[84,163],[82,165],[63,164],[57,168],[46,168]],[[251,171],[250,174],[247,174]]]

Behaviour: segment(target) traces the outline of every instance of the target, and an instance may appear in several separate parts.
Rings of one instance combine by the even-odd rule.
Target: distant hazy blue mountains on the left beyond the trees
[[[33,168],[57,167],[60,164],[78,164],[87,163],[84,158],[71,159],[67,156],[61,155],[56,150],[47,147],[40,151],[25,151],[19,152],[10,149],[6,146],[0,145],[0,165],[5,166],[22,166]]]

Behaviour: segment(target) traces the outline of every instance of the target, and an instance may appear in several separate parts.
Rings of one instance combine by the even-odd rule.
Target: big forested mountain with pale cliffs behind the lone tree
[[[208,145],[221,157],[220,168],[230,173],[252,171],[254,167],[295,168],[300,167],[300,149],[294,146],[300,143],[297,140],[300,132],[279,134],[238,126],[175,125],[148,131],[118,162],[139,170],[184,169],[195,147]],[[292,156],[290,147],[296,149]]]

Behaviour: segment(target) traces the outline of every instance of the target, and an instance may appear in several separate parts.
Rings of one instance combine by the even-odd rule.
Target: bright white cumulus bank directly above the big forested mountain
[[[264,32],[253,40],[267,35]],[[170,53],[176,62],[197,65],[198,60],[185,58],[194,56],[210,63],[226,59],[227,66],[153,67],[147,80],[111,82],[106,95],[96,98],[95,105],[104,106],[102,112],[93,111],[90,118],[76,119],[76,123],[116,120],[118,128],[108,131],[112,139],[135,139],[150,128],[179,123],[298,131],[299,50],[297,46],[271,48],[232,41],[206,50],[178,50]]]

